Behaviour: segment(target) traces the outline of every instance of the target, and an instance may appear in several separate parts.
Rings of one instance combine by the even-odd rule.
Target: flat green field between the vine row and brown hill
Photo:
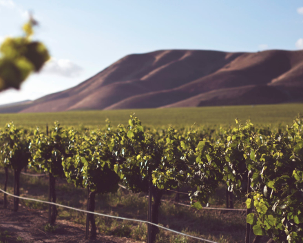
[[[236,117],[242,122],[251,119],[256,125],[285,126],[291,124],[297,115],[303,114],[303,104],[0,114],[0,126],[10,121],[25,127],[45,126],[59,121],[63,126],[102,127],[106,118],[116,126],[119,123],[127,124],[133,112],[144,126],[190,126],[194,122],[197,126],[233,125]]]

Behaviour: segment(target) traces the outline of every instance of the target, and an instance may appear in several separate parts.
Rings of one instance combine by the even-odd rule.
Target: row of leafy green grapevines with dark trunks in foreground
[[[86,211],[92,212],[86,214],[85,239],[94,240],[100,232],[94,213],[100,195],[104,198],[121,190],[148,195],[144,196],[148,202],[147,218],[141,221],[151,224],[141,228],[147,232],[146,241],[151,243],[161,242],[159,235],[170,230],[159,220],[167,193],[176,193],[176,202],[187,197],[191,207],[199,212],[212,207],[213,195],[223,188],[226,207],[236,209],[233,207],[242,202],[246,214],[246,233],[240,242],[303,241],[300,118],[286,128],[255,127],[249,120],[242,124],[236,119],[234,126],[216,129],[149,128],[134,115],[127,126],[114,127],[107,120],[107,125],[98,129],[77,130],[58,122],[50,129],[28,129],[11,122],[1,130],[0,156],[5,175],[3,191],[7,191],[9,177],[13,176],[14,195],[19,196],[21,173],[25,169],[48,175],[48,227],[56,226],[60,211],[56,205],[58,183],[73,184],[75,193],[83,188]],[[14,197],[13,211],[19,211],[19,200]],[[139,201],[137,198],[135,204]],[[8,207],[6,193],[3,206]],[[205,242],[219,242],[205,235],[192,236]],[[188,236],[176,242],[190,239]],[[222,235],[220,242],[228,241]]]

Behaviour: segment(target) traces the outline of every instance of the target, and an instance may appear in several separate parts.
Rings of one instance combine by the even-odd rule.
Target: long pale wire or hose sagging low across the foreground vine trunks
[[[112,217],[112,218],[115,218],[117,220],[127,220],[127,221],[133,221],[133,222],[140,222],[140,223],[145,223],[145,224],[151,224],[151,225],[157,226],[160,229],[164,229],[165,231],[171,231],[171,232],[176,233],[178,235],[183,235],[183,236],[191,237],[191,238],[194,238],[196,240],[202,240],[202,241],[205,241],[205,242],[218,243],[218,242],[214,242],[212,240],[207,240],[207,239],[203,239],[203,238],[200,238],[200,237],[196,237],[194,235],[188,235],[188,234],[185,234],[185,233],[182,233],[182,232],[179,232],[179,231],[174,231],[173,229],[169,229],[167,227],[160,226],[158,224],[154,224],[152,222],[148,222],[148,221],[145,221],[145,220],[136,220],[136,219],[129,219],[127,217],[119,217],[119,216],[114,216],[114,215],[107,215],[107,214],[104,214],[104,213],[96,213],[96,212],[86,211],[86,210],[79,209],[79,208],[73,208],[71,206],[65,206],[65,205],[62,205],[62,204],[56,204],[54,202],[46,202],[46,201],[43,201],[43,200],[37,200],[37,199],[34,199],[34,198],[29,198],[29,197],[20,197],[20,196],[8,193],[6,191],[3,191],[1,188],[0,188],[0,191],[2,193],[5,193],[6,195],[9,195],[11,197],[17,197],[17,198],[22,199],[22,200],[41,202],[43,204],[52,204],[52,205],[55,205],[55,206],[60,206],[62,208],[68,208],[68,209],[71,209],[71,210],[74,210],[74,211],[79,211],[79,212],[82,212],[82,213],[91,213],[91,214],[99,215],[99,216],[103,216],[103,217]]]

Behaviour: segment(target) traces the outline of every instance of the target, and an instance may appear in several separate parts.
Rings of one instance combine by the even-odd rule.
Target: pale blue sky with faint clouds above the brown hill
[[[303,49],[302,0],[0,0],[0,42],[21,35],[29,10],[52,60],[0,104],[70,88],[132,53]]]

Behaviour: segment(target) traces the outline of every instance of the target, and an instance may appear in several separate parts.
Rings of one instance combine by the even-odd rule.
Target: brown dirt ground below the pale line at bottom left
[[[126,237],[119,238],[100,234],[98,234],[97,240],[85,240],[85,226],[66,220],[56,220],[56,230],[52,233],[45,232],[44,226],[48,222],[46,211],[29,209],[20,205],[19,211],[13,212],[12,202],[9,201],[7,209],[4,209],[2,205],[0,205],[0,242],[138,243],[138,241]]]

